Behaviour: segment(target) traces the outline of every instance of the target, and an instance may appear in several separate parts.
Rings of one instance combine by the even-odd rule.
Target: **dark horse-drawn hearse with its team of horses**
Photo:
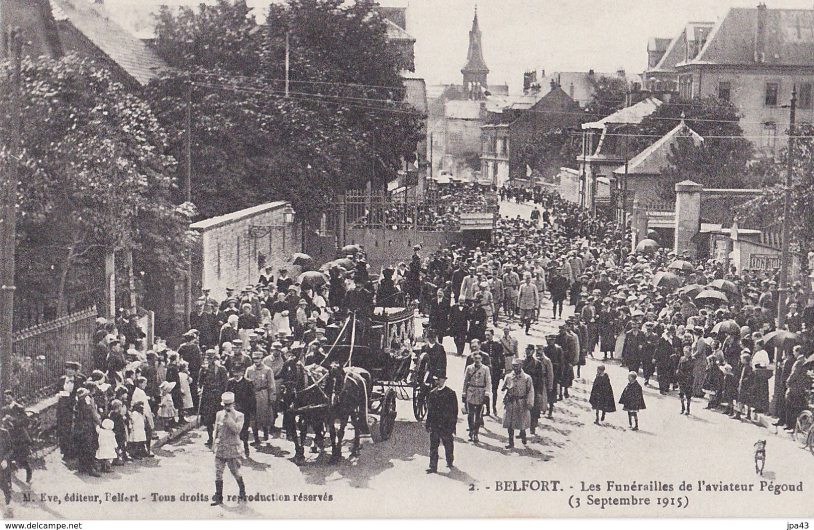
[[[280,404],[298,463],[304,460],[309,428],[315,433],[313,452],[330,433],[331,461],[338,462],[348,421],[354,428],[351,455],[357,456],[361,435],[372,435],[370,415],[378,417],[379,440],[391,437],[397,399],[411,399],[415,419],[424,419],[430,384],[416,347],[415,311],[409,305],[377,307],[368,316],[353,312],[326,328],[325,358],[286,363]]]

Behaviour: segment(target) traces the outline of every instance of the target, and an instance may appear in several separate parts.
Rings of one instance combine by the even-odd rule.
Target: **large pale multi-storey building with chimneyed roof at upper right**
[[[814,11],[732,8],[698,54],[676,64],[682,99],[732,102],[744,136],[759,154],[786,146],[792,89],[797,120],[814,119]]]

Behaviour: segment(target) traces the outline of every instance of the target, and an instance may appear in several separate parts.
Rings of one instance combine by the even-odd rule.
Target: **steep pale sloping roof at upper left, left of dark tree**
[[[67,20],[139,85],[168,70],[167,63],[147,45],[107,17],[103,4],[51,0],[55,18]]]

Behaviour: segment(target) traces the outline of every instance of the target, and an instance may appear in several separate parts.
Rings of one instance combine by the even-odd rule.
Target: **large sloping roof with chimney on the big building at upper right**
[[[755,63],[760,8],[733,7],[688,64],[814,66],[814,11],[765,9],[765,58]]]

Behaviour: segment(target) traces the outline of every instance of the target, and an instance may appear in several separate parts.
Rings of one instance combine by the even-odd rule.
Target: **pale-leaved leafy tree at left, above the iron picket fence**
[[[24,60],[17,268],[22,298],[67,309],[105,250],[146,250],[140,270],[184,268],[189,204],[173,206],[175,161],[149,106],[95,63]],[[7,69],[0,113],[8,119]],[[98,283],[97,283],[98,285]]]

